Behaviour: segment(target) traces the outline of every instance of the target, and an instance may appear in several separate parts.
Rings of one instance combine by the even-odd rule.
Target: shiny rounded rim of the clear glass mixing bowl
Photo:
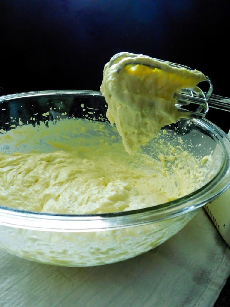
[[[99,95],[90,90],[48,90],[0,96],[0,104],[12,99],[44,95]],[[212,132],[223,150],[224,159],[219,172],[207,184],[179,199],[125,212],[102,214],[63,215],[23,211],[0,205],[0,225],[41,231],[85,232],[140,226],[171,219],[192,212],[217,198],[230,186],[230,139],[218,126],[207,119],[193,119],[198,125]],[[217,138],[218,136],[218,138]]]

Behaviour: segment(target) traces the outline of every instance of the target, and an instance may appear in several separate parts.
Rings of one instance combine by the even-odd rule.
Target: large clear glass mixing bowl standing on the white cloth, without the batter
[[[0,150],[28,151],[43,146],[33,142],[37,127],[50,127],[57,119],[87,118],[107,121],[99,91],[37,91],[0,97]],[[31,126],[30,141],[6,135]],[[32,129],[34,128],[34,129]],[[50,135],[50,137],[54,137]],[[94,266],[125,260],[144,253],[182,229],[197,210],[229,186],[228,136],[208,120],[178,121],[163,127],[143,147],[157,158],[156,144],[166,140],[196,157],[210,156],[210,176],[196,191],[170,202],[126,212],[61,215],[20,211],[0,203],[0,248],[36,262],[60,266]],[[181,145],[183,143],[183,145]],[[41,145],[42,144],[42,145]],[[49,150],[49,149],[46,149]]]

